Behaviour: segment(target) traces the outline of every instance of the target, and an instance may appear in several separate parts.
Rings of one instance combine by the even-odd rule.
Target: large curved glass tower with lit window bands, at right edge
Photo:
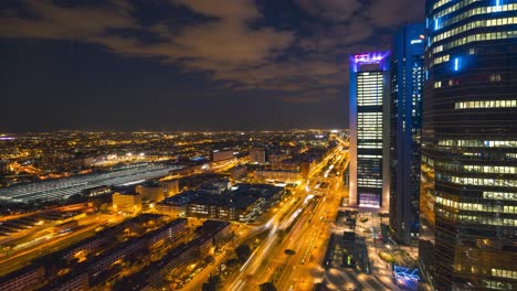
[[[428,0],[421,273],[517,290],[517,1]]]

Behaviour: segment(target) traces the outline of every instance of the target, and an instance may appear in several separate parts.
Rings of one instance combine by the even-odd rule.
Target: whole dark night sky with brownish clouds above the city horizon
[[[0,1],[0,131],[346,128],[424,0]]]

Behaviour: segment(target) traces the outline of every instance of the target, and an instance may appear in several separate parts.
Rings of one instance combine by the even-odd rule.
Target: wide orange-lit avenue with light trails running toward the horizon
[[[318,188],[319,198],[309,198],[312,190],[300,191],[299,206],[293,207],[282,220],[275,220],[265,241],[241,268],[239,276],[228,284],[231,291],[257,290],[261,283],[273,281],[278,290],[310,290],[316,280],[312,273],[323,261],[326,242],[330,235],[329,226],[336,216],[344,195],[341,175],[326,177],[323,172],[328,161],[334,159],[334,166],[347,159],[348,152],[335,150],[317,170],[312,171],[307,185],[326,182],[325,188]],[[338,169],[342,174],[348,162]],[[307,198],[308,197],[308,198]],[[294,255],[286,255],[292,249]]]

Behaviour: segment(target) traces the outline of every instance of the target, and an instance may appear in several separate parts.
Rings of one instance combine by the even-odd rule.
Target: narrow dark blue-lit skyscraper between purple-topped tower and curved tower
[[[390,227],[397,240],[416,242],[425,25],[400,29],[393,39],[390,86]]]

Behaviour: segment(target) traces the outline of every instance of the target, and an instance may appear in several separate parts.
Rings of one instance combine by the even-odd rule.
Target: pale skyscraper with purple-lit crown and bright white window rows
[[[389,204],[388,69],[388,52],[350,56],[350,206]]]

